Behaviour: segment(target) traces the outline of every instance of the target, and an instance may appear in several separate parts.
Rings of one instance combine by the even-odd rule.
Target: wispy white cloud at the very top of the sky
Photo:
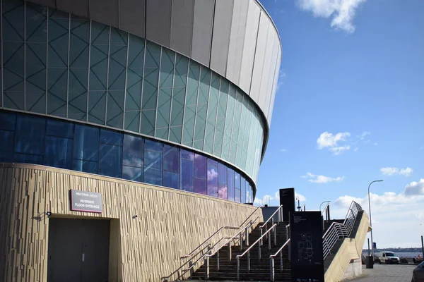
[[[315,17],[331,18],[331,27],[348,33],[355,31],[353,18],[360,4],[366,0],[298,0],[303,11],[310,11]]]

